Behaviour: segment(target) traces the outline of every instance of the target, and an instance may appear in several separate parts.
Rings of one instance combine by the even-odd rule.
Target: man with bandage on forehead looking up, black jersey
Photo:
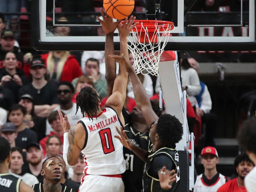
[[[63,164],[58,157],[49,157],[42,164],[41,175],[44,177],[44,182],[32,186],[35,192],[72,192],[60,180],[63,175]]]

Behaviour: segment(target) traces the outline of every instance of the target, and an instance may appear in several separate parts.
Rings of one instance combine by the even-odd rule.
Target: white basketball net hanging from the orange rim
[[[140,31],[136,26],[134,27],[136,31],[132,31],[128,36],[128,40],[131,43],[131,45],[128,44],[128,49],[132,52],[134,58],[133,68],[137,74],[146,75],[150,73],[158,76],[158,63],[168,42],[171,27],[171,24],[165,24],[165,26],[157,25],[156,21],[155,31],[151,32],[153,33],[153,38],[148,35],[148,28],[143,26],[143,22],[141,22]],[[140,39],[143,33],[145,33],[144,41]],[[156,38],[157,43],[155,43]],[[146,39],[148,39],[148,42]]]

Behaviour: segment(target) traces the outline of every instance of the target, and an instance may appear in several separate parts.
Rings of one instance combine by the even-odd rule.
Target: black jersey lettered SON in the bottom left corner
[[[4,191],[19,192],[20,181],[21,181],[20,178],[17,178],[10,173],[0,174],[0,192],[4,192]]]

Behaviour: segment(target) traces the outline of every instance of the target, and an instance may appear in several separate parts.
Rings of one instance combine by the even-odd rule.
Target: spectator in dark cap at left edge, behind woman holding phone
[[[0,68],[4,67],[4,59],[5,55],[8,52],[13,52],[16,56],[17,59],[17,67],[22,69],[23,68],[23,57],[24,54],[19,52],[19,48],[14,46],[15,45],[15,36],[14,33],[10,30],[4,30],[1,33],[0,37],[0,44],[1,44],[1,49],[0,49]]]

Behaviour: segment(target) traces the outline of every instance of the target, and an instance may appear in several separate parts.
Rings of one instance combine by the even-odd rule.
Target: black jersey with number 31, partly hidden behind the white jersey
[[[129,140],[137,147],[148,150],[148,132],[140,133],[133,128],[132,124],[126,124],[124,131]],[[144,162],[135,155],[130,149],[123,148],[124,159],[126,162],[126,171],[123,173],[124,191],[141,192],[143,189],[142,177]]]

